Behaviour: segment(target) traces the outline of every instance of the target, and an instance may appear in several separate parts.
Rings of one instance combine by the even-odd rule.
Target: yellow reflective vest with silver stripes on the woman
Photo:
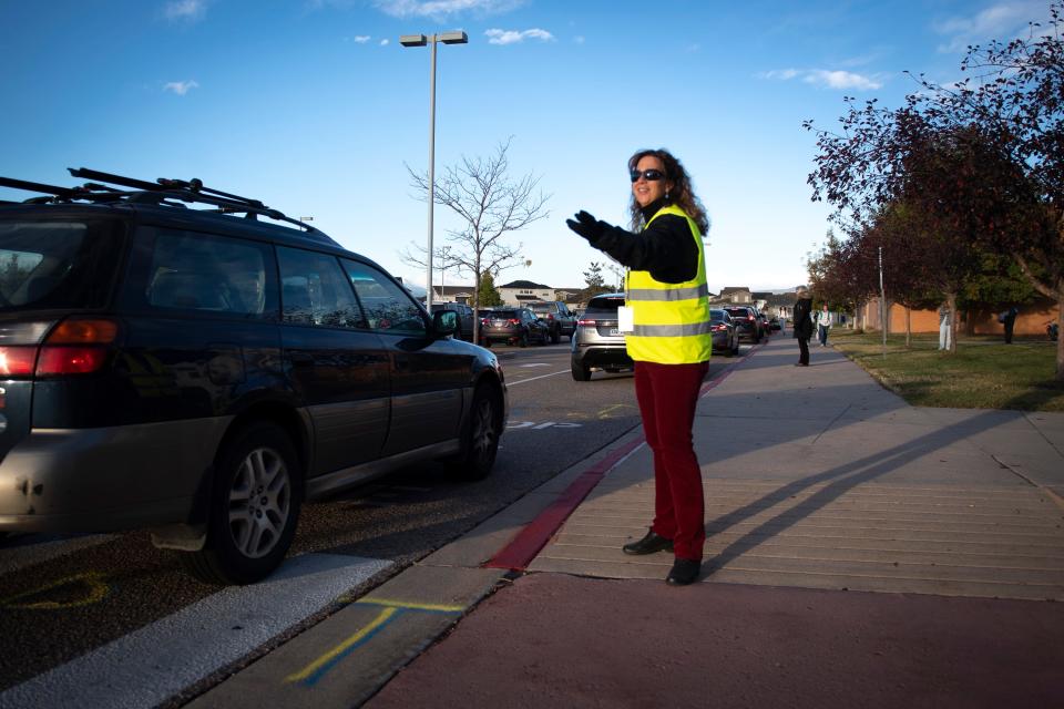
[[[705,362],[713,352],[713,335],[702,235],[698,226],[676,205],[658,209],[646,226],[663,214],[687,219],[692,238],[698,245],[698,273],[692,280],[666,284],[655,280],[646,270],[628,271],[625,298],[635,321],[635,329],[624,338],[628,357],[659,364]]]

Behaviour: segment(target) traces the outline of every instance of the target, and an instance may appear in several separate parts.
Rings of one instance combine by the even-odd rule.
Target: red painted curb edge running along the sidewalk
[[[736,367],[746,361],[747,358],[753,356],[760,347],[764,346],[751,347],[743,359],[733,362],[727,369],[706,383],[698,391],[698,397],[705,395],[707,391],[727,379],[728,374],[735,371]],[[569,518],[573,510],[584,501],[587,493],[595,489],[595,485],[598,484],[603,475],[613,470],[614,465],[642,445],[645,440],[642,435],[633,439],[616,450],[611,451],[604,459],[581,473],[580,477],[574,480],[572,484],[557,496],[557,500],[536,515],[535,520],[526,524],[504,547],[484,563],[483,568],[509,568],[516,572],[523,572],[528,568],[532,559],[535,558],[535,555],[546,546],[550,538],[557,532],[565,520]]]

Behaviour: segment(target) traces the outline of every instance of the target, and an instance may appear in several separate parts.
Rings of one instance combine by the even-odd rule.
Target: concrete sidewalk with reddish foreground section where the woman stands
[[[653,517],[643,445],[368,706],[1064,706],[1064,414],[795,361],[777,338],[699,403],[700,583],[621,553]]]

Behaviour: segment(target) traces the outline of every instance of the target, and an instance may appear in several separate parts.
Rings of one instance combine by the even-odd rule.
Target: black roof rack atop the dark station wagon
[[[286,222],[306,232],[306,236],[325,240],[339,246],[325,233],[316,229],[306,222],[293,219],[278,209],[267,207],[258,199],[249,199],[221,189],[206,187],[197,178],[171,179],[160,177],[155,182],[146,182],[133,177],[123,177],[111,173],[90,169],[88,167],[68,167],[73,177],[81,177],[94,182],[86,182],[78,187],[59,187],[43,183],[27,182],[11,177],[0,177],[0,187],[24,189],[27,192],[43,193],[41,196],[24,199],[22,204],[49,204],[92,202],[104,204],[150,204],[184,208],[187,204],[205,204],[214,207],[204,212],[221,212],[223,214],[244,214],[245,218],[257,220],[258,215],[277,222]],[[7,203],[10,204],[10,203]]]

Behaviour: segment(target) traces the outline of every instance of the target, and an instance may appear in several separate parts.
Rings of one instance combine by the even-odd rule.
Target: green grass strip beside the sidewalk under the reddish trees
[[[855,335],[832,328],[829,342],[880,383],[917,407],[1064,411],[1064,382],[1054,378],[1055,343],[1001,337],[960,337],[956,353],[940,352],[939,336]]]

